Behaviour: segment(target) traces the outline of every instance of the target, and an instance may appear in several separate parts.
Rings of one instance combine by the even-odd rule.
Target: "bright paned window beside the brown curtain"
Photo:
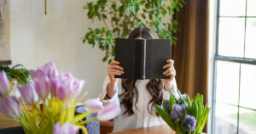
[[[256,133],[256,0],[218,0],[212,134]]]

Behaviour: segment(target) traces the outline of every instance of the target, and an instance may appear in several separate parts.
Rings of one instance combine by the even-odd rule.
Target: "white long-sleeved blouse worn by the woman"
[[[135,83],[135,86],[137,87],[138,90],[138,100],[137,100],[137,109],[135,105],[133,104],[133,111],[134,114],[131,116],[128,116],[125,113],[125,107],[123,105],[120,106],[121,108],[121,113],[113,119],[114,121],[114,126],[113,126],[113,132],[115,131],[125,131],[125,130],[131,130],[131,129],[136,129],[136,128],[141,128],[141,127],[147,127],[147,126],[160,126],[166,124],[164,120],[160,118],[160,116],[152,115],[148,112],[148,102],[152,98],[151,95],[149,94],[148,90],[146,89],[146,85],[148,84],[149,80],[137,80]],[[102,88],[102,93],[100,94],[100,98],[104,104],[110,103],[110,102],[115,102],[118,105],[120,105],[119,101],[119,94],[125,92],[125,90],[122,87],[121,84],[121,79],[118,79],[117,85],[115,85],[115,90],[117,91],[114,95],[113,98],[109,100],[105,100],[105,96],[107,93],[107,86],[108,83],[110,82],[109,77],[107,76],[104,83],[103,83],[103,88]],[[173,93],[177,95],[177,83],[176,80],[174,79],[172,81],[173,83]],[[165,91],[163,92],[163,98],[170,98],[170,92]],[[151,103],[149,105],[149,110],[151,109]]]

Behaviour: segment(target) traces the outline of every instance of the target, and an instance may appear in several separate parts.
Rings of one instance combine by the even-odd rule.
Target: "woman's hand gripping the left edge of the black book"
[[[116,81],[114,75],[122,75],[125,73],[124,68],[122,68],[118,64],[120,64],[118,61],[112,60],[111,63],[108,65],[108,77],[110,79],[110,82]]]

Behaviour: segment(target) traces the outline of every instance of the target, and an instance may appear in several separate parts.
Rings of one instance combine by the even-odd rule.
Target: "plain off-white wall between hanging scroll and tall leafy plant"
[[[60,71],[71,72],[86,81],[85,98],[94,98],[102,90],[108,64],[102,62],[104,53],[97,47],[82,43],[89,26],[102,25],[87,20],[84,0],[11,1],[11,59],[37,69],[53,61]]]

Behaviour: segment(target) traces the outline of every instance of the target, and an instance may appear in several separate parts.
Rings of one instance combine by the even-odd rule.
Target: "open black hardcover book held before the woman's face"
[[[162,73],[167,59],[171,59],[170,39],[115,39],[115,60],[125,70],[116,78],[166,79]]]

